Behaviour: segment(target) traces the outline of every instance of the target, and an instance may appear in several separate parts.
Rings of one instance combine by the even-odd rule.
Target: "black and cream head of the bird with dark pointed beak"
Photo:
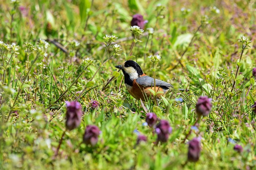
[[[137,79],[143,74],[140,65],[132,60],[125,61],[124,63],[122,63],[122,65],[118,65],[115,67],[122,69],[124,77],[127,78],[128,76],[130,80]]]

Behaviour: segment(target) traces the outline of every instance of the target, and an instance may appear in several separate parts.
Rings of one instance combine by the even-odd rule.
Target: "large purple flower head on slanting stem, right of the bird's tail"
[[[207,96],[201,96],[198,98],[197,104],[196,104],[196,113],[198,116],[208,116],[212,109],[211,99]]]

